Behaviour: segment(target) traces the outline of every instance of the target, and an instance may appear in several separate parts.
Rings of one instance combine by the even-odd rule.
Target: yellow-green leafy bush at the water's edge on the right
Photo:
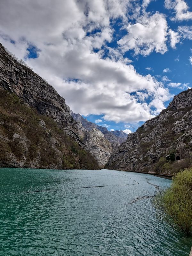
[[[175,174],[171,187],[154,203],[164,220],[192,235],[192,167]]]

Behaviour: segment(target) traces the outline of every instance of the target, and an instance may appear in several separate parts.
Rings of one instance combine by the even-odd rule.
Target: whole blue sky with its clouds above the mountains
[[[0,43],[109,131],[191,88],[191,0],[1,0]]]

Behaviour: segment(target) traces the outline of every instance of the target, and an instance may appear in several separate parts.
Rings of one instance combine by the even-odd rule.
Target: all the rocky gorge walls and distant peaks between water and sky
[[[51,85],[15,60],[1,44],[0,88],[0,164],[3,167],[97,169],[105,166],[171,174],[191,163],[191,89],[176,95],[168,108],[127,135],[123,131],[109,132],[106,127],[73,113]],[[31,130],[26,132],[29,121]],[[38,138],[29,136],[34,133]]]

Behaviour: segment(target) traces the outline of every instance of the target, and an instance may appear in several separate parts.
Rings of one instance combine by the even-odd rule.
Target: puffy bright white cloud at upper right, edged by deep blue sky
[[[135,54],[147,56],[153,51],[162,54],[167,51],[167,22],[163,14],[144,15],[137,23],[127,26],[127,33],[117,42],[124,52],[133,50]]]

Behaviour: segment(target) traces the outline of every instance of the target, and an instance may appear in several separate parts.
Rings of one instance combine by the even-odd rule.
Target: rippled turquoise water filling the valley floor
[[[111,170],[2,168],[0,255],[188,256],[192,239],[152,204],[170,184]]]

